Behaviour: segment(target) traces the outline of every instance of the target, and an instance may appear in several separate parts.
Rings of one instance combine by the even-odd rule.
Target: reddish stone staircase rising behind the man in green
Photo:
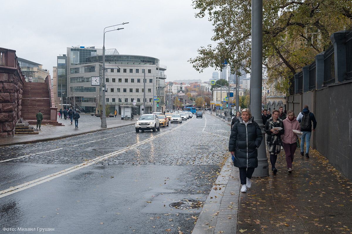
[[[48,83],[24,82],[21,117],[29,124],[37,124],[37,113],[42,111],[42,124],[61,126],[61,123],[50,120],[51,97]]]

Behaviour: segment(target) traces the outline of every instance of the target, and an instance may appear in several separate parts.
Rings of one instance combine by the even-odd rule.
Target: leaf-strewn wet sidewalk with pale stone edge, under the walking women
[[[277,175],[252,177],[246,193],[229,157],[192,233],[351,233],[351,181],[318,151],[309,154],[301,157],[298,148],[289,174],[282,150]]]

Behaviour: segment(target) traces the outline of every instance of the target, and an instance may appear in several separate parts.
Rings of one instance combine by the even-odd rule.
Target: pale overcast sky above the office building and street
[[[117,1],[2,1],[0,47],[16,50],[20,58],[56,67],[56,56],[70,46],[103,46],[104,27],[123,30],[105,34],[105,48],[120,54],[145,55],[167,66],[166,81],[209,81],[213,68],[197,72],[187,62],[211,42],[213,26],[194,17],[191,0]],[[5,23],[6,22],[6,23]],[[6,36],[4,36],[6,35]]]

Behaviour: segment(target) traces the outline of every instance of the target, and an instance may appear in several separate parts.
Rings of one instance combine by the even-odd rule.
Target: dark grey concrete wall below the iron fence
[[[352,81],[287,97],[287,109],[297,116],[304,105],[315,115],[310,146],[352,179]]]

